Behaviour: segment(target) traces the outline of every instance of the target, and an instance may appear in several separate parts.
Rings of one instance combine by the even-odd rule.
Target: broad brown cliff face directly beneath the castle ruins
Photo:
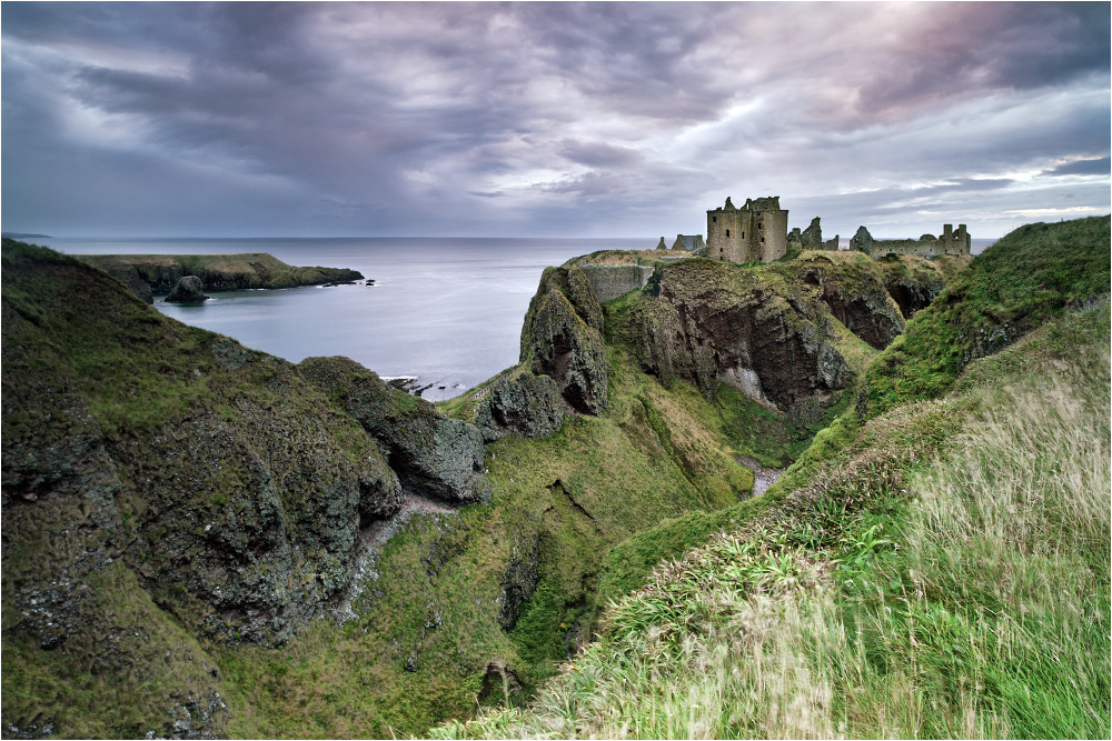
[[[854,256],[759,268],[689,260],[659,267],[654,281],[608,317],[647,371],[705,393],[731,385],[804,418],[863,370],[862,342],[884,348],[904,327],[875,263]]]

